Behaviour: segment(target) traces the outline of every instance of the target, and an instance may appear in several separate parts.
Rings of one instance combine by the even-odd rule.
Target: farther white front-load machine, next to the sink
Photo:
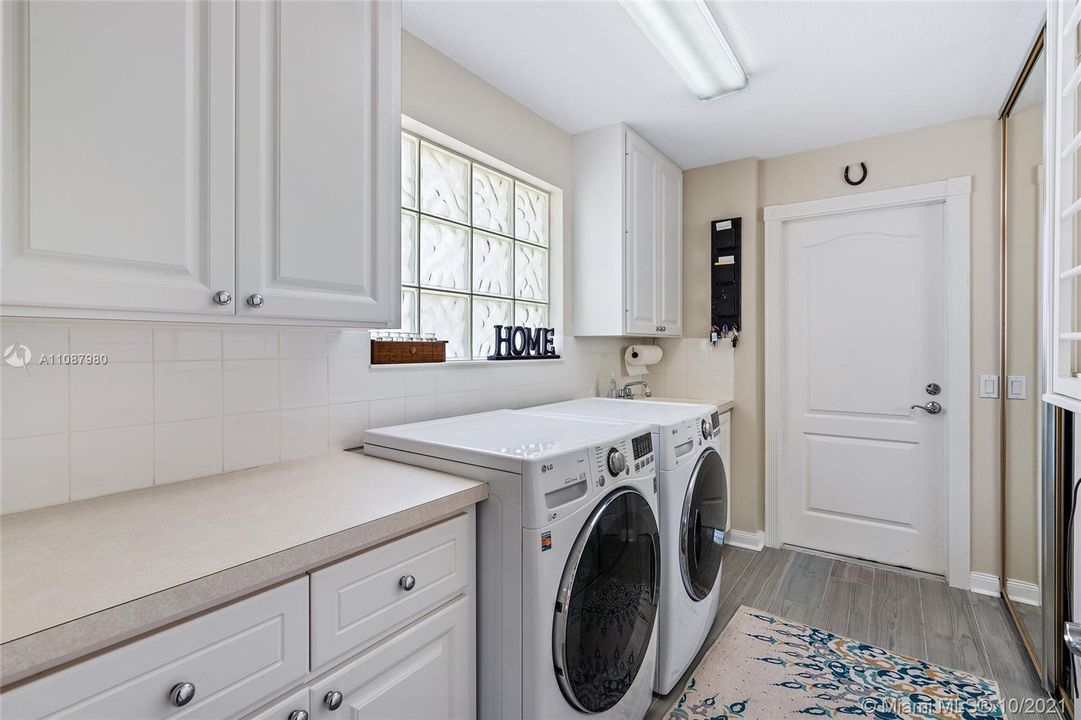
[[[528,412],[652,426],[664,578],[654,690],[667,694],[694,661],[717,617],[721,548],[731,517],[726,443],[722,445],[728,428],[722,427],[717,408],[707,404],[585,398]]]

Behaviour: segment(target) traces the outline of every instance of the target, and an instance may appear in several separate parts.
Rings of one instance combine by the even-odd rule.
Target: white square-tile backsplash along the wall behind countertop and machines
[[[351,448],[378,425],[603,392],[610,373],[624,382],[633,342],[566,338],[560,361],[373,369],[360,330],[4,318],[0,338],[34,352],[29,372],[0,370],[2,512]],[[69,345],[108,363],[37,364]]]

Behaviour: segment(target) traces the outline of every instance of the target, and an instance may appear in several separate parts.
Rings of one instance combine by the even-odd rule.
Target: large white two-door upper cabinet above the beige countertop
[[[397,326],[400,36],[395,1],[3,3],[0,311]]]

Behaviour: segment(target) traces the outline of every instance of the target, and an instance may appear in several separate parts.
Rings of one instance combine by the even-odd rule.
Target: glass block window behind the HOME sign
[[[402,330],[449,360],[495,351],[495,325],[548,326],[544,190],[402,133]]]

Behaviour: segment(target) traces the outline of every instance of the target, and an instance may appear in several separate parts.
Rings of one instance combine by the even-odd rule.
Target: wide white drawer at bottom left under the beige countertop
[[[306,577],[0,695],[5,720],[229,718],[308,670]],[[195,685],[176,707],[170,692]]]

